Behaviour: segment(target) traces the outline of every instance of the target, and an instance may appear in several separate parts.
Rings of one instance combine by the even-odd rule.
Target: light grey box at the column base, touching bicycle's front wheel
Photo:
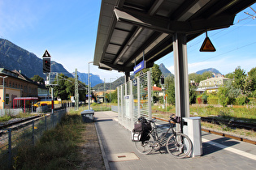
[[[202,155],[201,117],[183,117],[183,133],[189,136],[192,142],[191,156]]]

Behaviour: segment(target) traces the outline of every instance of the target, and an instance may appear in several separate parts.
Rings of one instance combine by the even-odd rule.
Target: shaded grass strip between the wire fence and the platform
[[[53,130],[46,130],[35,146],[19,147],[15,169],[75,169],[81,163],[78,143],[85,130],[80,111],[67,113]]]

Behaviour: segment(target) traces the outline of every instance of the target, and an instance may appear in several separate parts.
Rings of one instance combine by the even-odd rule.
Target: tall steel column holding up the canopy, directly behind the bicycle
[[[189,117],[189,75],[185,34],[173,36],[176,116]]]

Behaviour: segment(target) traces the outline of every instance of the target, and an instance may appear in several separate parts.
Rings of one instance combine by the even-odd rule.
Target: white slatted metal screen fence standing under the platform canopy
[[[152,80],[148,71],[117,87],[119,123],[133,129],[138,117],[152,118]]]

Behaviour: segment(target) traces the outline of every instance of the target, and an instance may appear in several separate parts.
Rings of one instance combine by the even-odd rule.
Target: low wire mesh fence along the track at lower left
[[[36,121],[29,121],[23,127],[1,130],[0,134],[0,164],[1,169],[12,167],[13,158],[19,148],[35,145],[45,130],[50,130],[59,123],[66,109],[59,110],[46,117],[40,117]]]

